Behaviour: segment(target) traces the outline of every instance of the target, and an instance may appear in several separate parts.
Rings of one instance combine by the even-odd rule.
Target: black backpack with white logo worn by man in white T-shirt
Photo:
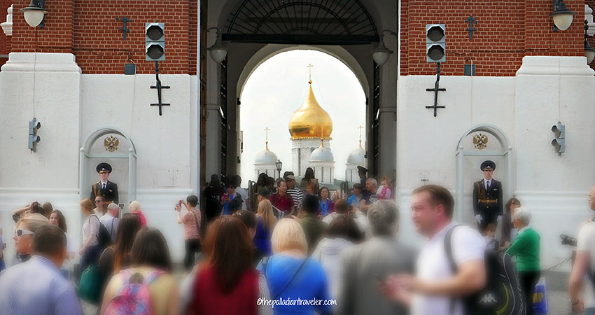
[[[452,272],[458,269],[452,254],[452,227],[444,236],[444,251]],[[510,261],[510,255],[486,251],[486,286],[477,293],[463,297],[463,314],[467,315],[524,315],[525,303],[517,274]],[[451,300],[450,312],[454,311],[455,299]]]

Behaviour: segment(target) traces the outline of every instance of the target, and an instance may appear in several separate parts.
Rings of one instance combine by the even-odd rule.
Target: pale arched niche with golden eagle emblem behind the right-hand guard
[[[493,179],[502,182],[503,205],[512,197],[512,146],[506,134],[493,125],[470,128],[456,146],[456,209],[454,218],[472,227],[477,225],[473,214],[473,183],[483,179],[480,165],[484,160],[496,163]]]

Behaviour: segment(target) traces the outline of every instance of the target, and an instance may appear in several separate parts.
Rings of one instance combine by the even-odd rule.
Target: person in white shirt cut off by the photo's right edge
[[[589,190],[589,208],[595,211],[595,186]],[[595,222],[584,223],[580,228],[576,244],[576,257],[568,280],[568,300],[578,314],[595,315],[594,277],[595,268]],[[587,283],[584,283],[587,279]],[[583,286],[586,298],[580,297]]]

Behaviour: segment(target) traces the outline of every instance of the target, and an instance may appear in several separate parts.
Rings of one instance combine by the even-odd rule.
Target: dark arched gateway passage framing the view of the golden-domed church
[[[396,58],[389,62],[391,69],[384,70],[372,59],[382,29],[373,1],[230,0],[216,12],[228,55],[221,64],[208,60],[209,76],[218,76],[209,79],[209,86],[218,94],[211,93],[207,101],[205,176],[228,176],[246,164],[252,167],[252,161],[241,160],[238,109],[246,80],[270,57],[307,49],[332,55],[355,73],[366,97],[367,167],[374,176],[394,178],[396,97],[388,85],[382,89],[382,82],[395,79]]]

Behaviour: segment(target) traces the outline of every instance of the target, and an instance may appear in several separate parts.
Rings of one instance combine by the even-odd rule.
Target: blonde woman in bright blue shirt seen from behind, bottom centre
[[[316,260],[307,257],[306,235],[297,221],[283,218],[276,224],[272,238],[273,253],[263,258],[258,269],[267,278],[275,315],[332,314],[326,274]],[[298,299],[309,302],[298,304]],[[313,302],[321,300],[320,302]]]

